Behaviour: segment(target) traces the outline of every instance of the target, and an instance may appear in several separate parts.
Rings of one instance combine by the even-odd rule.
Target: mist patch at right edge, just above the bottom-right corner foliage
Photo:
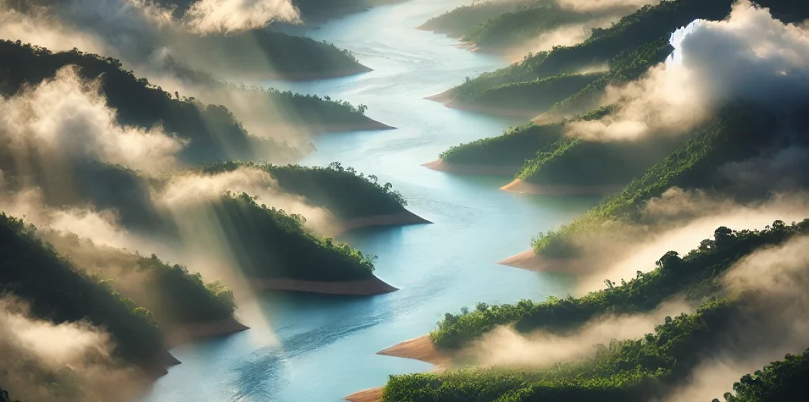
[[[705,358],[667,402],[721,398],[743,375],[806,349],[809,237],[753,252],[726,273],[722,285],[745,298],[748,316],[737,319],[722,349]]]

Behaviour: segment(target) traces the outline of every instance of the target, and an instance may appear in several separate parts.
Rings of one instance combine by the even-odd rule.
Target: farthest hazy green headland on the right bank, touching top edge
[[[472,4],[460,6],[455,10],[447,11],[442,15],[431,18],[419,28],[460,37],[487,19],[506,12],[523,10],[527,7],[547,3],[544,0],[515,0],[508,2],[472,0]]]

